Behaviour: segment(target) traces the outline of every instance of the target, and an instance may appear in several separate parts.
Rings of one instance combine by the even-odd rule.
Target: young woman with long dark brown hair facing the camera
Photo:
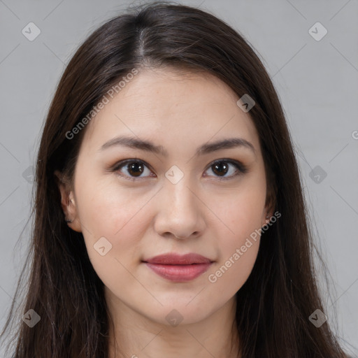
[[[87,38],[34,213],[15,358],[346,357],[278,96],[213,15],[154,3]]]

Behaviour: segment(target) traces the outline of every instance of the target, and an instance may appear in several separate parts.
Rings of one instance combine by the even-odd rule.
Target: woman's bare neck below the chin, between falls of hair
[[[114,313],[108,358],[239,357],[235,296],[201,322],[176,327],[154,322],[117,299],[108,300],[108,308]]]

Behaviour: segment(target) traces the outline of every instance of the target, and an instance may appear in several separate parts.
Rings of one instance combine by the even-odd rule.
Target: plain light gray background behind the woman
[[[1,328],[29,243],[31,166],[55,87],[90,31],[130,3],[0,0]],[[358,357],[358,1],[181,3],[200,6],[240,31],[273,78],[319,234],[317,245],[334,284],[333,296],[324,298],[326,314],[334,324],[336,309],[336,334]],[[34,41],[22,34],[29,22],[41,29]],[[316,22],[328,31],[320,41],[309,32]]]

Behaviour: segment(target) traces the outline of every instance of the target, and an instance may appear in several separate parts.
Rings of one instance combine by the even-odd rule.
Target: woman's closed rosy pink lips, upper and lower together
[[[213,264],[202,255],[164,254],[146,259],[143,263],[162,278],[176,282],[186,282],[199,277]]]

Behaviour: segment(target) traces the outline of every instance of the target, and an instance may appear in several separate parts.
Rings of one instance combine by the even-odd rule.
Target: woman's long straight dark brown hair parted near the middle
[[[242,357],[345,357],[328,322],[317,328],[308,319],[324,308],[299,169],[273,83],[241,34],[210,13],[167,2],[104,23],[80,45],[59,81],[38,150],[34,227],[22,271],[29,270],[29,283],[17,310],[24,315],[32,309],[41,321],[32,328],[15,321],[13,357],[108,358],[103,282],[83,235],[64,220],[54,172],[72,180],[86,128],[71,139],[69,131],[120,78],[145,66],[212,73],[238,96],[255,100],[250,117],[264,156],[267,200],[282,217],[262,233],[255,266],[236,294]],[[15,299],[3,332],[14,307]]]

